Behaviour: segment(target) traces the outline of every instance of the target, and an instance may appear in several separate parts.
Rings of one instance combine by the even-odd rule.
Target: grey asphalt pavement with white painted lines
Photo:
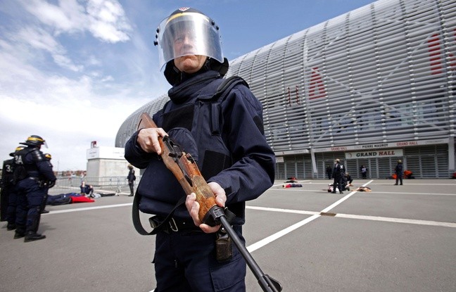
[[[343,194],[329,180],[299,183],[249,201],[243,229],[283,291],[456,291],[456,180],[355,180]],[[155,236],[134,230],[127,194],[48,205],[41,241],[13,239],[1,222],[0,291],[153,291]],[[262,291],[249,269],[246,284]]]

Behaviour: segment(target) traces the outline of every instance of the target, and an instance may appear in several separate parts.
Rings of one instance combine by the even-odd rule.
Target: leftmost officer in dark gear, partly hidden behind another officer
[[[14,153],[23,149],[23,146],[15,148],[15,151],[10,153],[14,157]],[[3,172],[1,172],[1,221],[7,221],[7,230],[15,229],[15,210],[16,210],[16,195],[15,186],[13,184],[14,177],[14,159],[4,161]]]

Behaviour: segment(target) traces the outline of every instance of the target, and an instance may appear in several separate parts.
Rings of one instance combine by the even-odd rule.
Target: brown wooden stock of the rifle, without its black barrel
[[[156,127],[156,123],[153,122],[148,113],[141,114],[138,129]],[[215,226],[214,220],[210,216],[207,216],[210,208],[217,205],[215,203],[215,196],[207,182],[205,182],[203,175],[201,175],[195,160],[189,153],[181,151],[179,145],[175,144],[169,137],[158,137],[158,142],[162,150],[160,156],[167,169],[175,175],[187,195],[196,193],[196,201],[200,205],[198,217],[201,222]]]

